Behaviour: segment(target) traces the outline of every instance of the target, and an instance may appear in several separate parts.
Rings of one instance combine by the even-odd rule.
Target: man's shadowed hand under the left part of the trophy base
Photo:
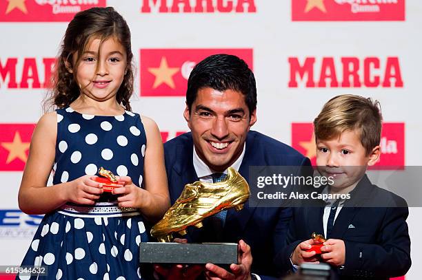
[[[188,243],[188,239],[174,238],[174,242],[177,243]],[[158,264],[154,264],[154,272],[157,273],[160,277],[156,279],[165,279],[165,280],[179,280],[179,279],[197,279],[199,275],[203,272],[203,266],[194,265],[188,266],[183,264],[175,264],[170,268],[165,268]]]

